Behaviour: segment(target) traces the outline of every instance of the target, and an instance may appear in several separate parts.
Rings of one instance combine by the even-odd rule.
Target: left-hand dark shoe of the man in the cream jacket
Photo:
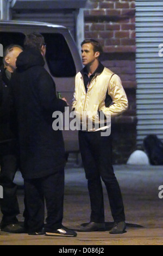
[[[91,232],[91,231],[106,231],[105,223],[90,222],[86,225],[82,225],[77,231],[80,232]]]

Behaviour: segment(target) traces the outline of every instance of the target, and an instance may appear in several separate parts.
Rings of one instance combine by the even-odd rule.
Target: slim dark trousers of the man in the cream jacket
[[[90,221],[98,223],[105,221],[101,179],[108,192],[111,214],[114,221],[125,221],[121,190],[111,161],[111,136],[102,137],[100,131],[79,131],[79,146],[88,181],[91,202]]]

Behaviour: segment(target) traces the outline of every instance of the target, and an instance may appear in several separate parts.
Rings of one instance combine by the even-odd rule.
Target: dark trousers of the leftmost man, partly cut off
[[[20,214],[17,202],[17,186],[13,180],[17,170],[17,157],[15,155],[0,156],[0,185],[3,187],[3,199],[0,199],[3,214],[1,227],[17,223],[16,216]]]

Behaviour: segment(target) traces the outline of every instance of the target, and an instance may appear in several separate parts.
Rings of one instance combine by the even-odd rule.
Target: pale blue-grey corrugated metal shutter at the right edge
[[[163,1],[135,2],[137,145],[140,146],[149,134],[163,139]]]

